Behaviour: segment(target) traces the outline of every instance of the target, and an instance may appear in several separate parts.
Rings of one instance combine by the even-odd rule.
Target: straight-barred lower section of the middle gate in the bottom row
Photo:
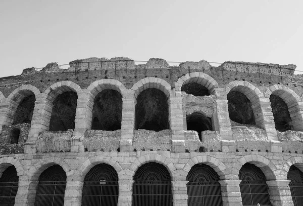
[[[172,206],[171,181],[135,181],[133,206]]]

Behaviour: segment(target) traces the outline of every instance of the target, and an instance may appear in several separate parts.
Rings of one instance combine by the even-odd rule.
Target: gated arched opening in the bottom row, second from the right
[[[252,164],[244,164],[239,172],[240,192],[243,205],[268,205],[270,199],[266,178],[262,170]]]

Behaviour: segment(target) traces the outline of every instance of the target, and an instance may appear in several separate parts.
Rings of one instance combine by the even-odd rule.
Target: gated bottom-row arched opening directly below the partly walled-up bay
[[[221,185],[219,175],[213,168],[205,164],[194,165],[186,177],[188,181],[188,206],[222,205]]]

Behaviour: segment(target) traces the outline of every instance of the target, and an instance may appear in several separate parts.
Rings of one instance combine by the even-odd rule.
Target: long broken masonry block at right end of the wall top
[[[250,63],[244,61],[225,61],[219,68],[222,70],[242,72],[242,73],[260,73],[276,76],[293,75],[296,65],[279,65],[273,63]]]

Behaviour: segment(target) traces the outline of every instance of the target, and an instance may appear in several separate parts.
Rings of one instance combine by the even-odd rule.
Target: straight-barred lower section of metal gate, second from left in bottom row
[[[35,206],[63,206],[66,181],[39,181]]]

